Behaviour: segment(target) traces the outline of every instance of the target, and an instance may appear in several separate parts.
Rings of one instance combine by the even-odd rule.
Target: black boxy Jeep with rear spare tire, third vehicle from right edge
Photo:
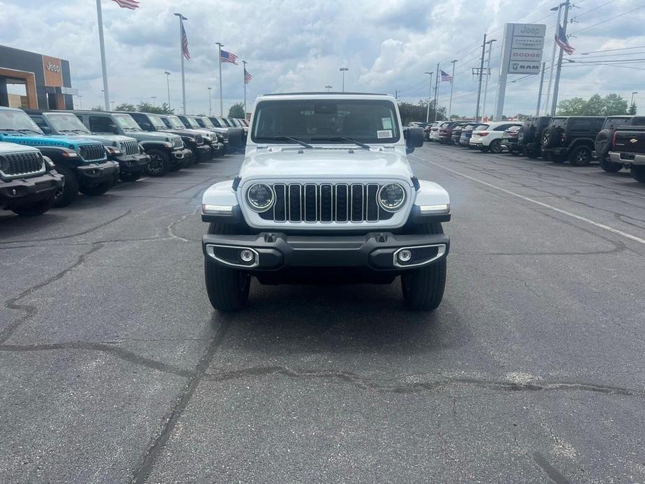
[[[589,165],[604,122],[605,116],[555,116],[542,133],[542,158],[556,163],[569,160],[575,167]]]

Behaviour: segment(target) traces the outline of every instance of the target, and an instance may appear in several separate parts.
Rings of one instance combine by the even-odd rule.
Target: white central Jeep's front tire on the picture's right
[[[443,234],[441,224],[418,226],[417,234]],[[429,266],[411,269],[401,275],[401,289],[405,305],[413,310],[437,309],[446,287],[446,257]]]

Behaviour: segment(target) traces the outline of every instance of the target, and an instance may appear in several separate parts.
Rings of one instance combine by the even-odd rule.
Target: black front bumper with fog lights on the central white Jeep
[[[359,236],[292,236],[280,232],[257,235],[209,234],[202,238],[206,259],[246,271],[280,271],[292,268],[363,268],[400,273],[427,266],[448,255],[450,239],[445,234],[395,235],[371,232]],[[404,249],[411,259],[398,257]],[[243,262],[240,253],[254,257]]]

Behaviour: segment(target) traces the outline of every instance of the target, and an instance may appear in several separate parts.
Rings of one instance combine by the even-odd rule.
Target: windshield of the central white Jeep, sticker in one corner
[[[305,142],[349,138],[393,143],[400,139],[396,110],[388,100],[261,101],[255,111],[252,139],[271,142],[271,137],[281,136]]]

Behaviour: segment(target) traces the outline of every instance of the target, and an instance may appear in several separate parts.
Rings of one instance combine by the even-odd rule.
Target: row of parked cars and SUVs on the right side
[[[582,167],[592,160],[605,172],[630,169],[645,182],[645,116],[533,116],[526,121],[438,121],[425,139],[484,153],[508,151]]]

